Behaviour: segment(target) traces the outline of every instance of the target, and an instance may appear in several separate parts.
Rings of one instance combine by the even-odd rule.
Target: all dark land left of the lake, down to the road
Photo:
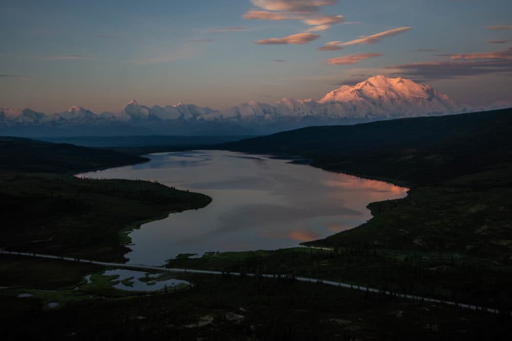
[[[147,161],[110,150],[0,138],[0,247],[124,261],[124,232],[211,198],[141,180],[70,174]]]

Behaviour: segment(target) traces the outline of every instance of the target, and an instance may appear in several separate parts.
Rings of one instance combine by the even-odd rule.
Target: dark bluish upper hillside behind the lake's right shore
[[[222,145],[301,155],[313,166],[409,185],[444,180],[512,161],[512,109],[309,127]]]

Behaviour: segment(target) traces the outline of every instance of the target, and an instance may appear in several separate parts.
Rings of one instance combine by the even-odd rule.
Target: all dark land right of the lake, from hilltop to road
[[[176,259],[171,267],[330,279],[445,300],[512,307],[512,110],[311,127],[223,148],[301,155],[330,171],[409,186],[369,204],[374,218],[315,249]]]

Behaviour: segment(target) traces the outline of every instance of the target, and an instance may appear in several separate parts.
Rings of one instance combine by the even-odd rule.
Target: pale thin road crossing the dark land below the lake
[[[226,273],[226,272],[222,272],[222,271],[166,268],[166,267],[160,267],[160,266],[134,265],[134,264],[124,264],[124,263],[108,263],[108,262],[99,262],[99,261],[93,261],[93,260],[88,260],[88,259],[59,257],[59,256],[52,256],[52,255],[41,255],[41,254],[33,254],[33,253],[26,253],[26,252],[0,251],[0,254],[57,259],[57,260],[96,264],[96,265],[109,266],[109,267],[130,268],[130,269],[139,269],[139,270],[182,272],[184,274],[189,273],[189,274],[222,275],[222,274]],[[229,275],[240,276],[240,272],[229,272]],[[246,274],[246,276],[254,277],[255,275],[254,274]],[[276,275],[263,274],[260,276],[266,277],[266,278],[275,278]],[[390,292],[390,291],[382,291],[382,290],[375,289],[375,288],[368,288],[365,286],[358,286],[358,285],[356,286],[356,285],[341,283],[341,282],[325,281],[325,280],[320,280],[320,279],[316,279],[316,278],[307,278],[307,277],[295,277],[295,280],[300,281],[300,282],[321,283],[321,284],[326,284],[326,285],[333,285],[333,286],[337,286],[337,287],[342,287],[342,288],[347,288],[347,289],[355,289],[355,290],[359,290],[359,291],[383,293],[383,294],[387,294],[387,295],[393,294],[395,297],[399,297],[399,298],[403,298],[403,299],[407,299],[407,300],[416,300],[416,301],[423,301],[423,302],[430,302],[430,303],[441,303],[441,304],[458,306],[459,308],[464,308],[464,309],[486,311],[486,312],[490,312],[490,313],[494,313],[494,314],[500,313],[500,311],[498,309],[493,309],[493,308],[486,308],[486,307],[475,306],[475,305],[471,305],[471,304],[461,304],[461,303],[456,303],[453,301],[431,299],[428,297],[421,297],[421,296],[416,296],[416,295],[400,294],[400,293],[394,293],[394,292]],[[512,315],[512,312],[511,312],[511,315]]]

